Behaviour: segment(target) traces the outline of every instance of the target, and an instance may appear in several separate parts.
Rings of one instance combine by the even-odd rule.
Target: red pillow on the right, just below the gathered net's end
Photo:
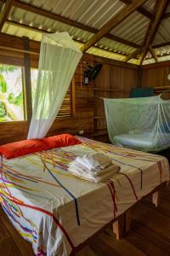
[[[77,139],[77,137],[74,137],[71,134],[60,134],[53,137],[44,137],[41,139],[41,141],[48,145],[48,149],[68,147],[68,146],[77,145],[81,143]]]

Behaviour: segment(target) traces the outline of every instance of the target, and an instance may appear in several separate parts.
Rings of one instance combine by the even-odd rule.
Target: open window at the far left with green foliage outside
[[[0,64],[0,122],[24,119],[22,68]]]

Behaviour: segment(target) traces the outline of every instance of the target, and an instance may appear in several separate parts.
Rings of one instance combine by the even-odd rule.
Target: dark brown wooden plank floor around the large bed
[[[161,191],[161,205],[145,198],[133,207],[132,227],[126,239],[116,241],[111,229],[84,247],[78,256],[169,256],[170,187]],[[31,245],[24,241],[0,209],[0,256],[32,256]]]

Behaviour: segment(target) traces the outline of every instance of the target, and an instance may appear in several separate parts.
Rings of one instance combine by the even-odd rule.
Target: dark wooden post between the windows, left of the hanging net
[[[29,50],[29,38],[23,37],[24,49]],[[28,129],[30,127],[31,116],[32,116],[32,99],[31,99],[31,56],[28,53],[24,53],[24,84],[25,84],[25,106]]]

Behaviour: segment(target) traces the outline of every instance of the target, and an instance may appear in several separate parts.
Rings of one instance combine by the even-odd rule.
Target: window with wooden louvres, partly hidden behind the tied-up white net
[[[34,104],[35,99],[35,90],[37,84],[37,73],[38,70],[36,68],[31,68],[31,93],[32,93],[32,105]],[[72,115],[72,93],[71,93],[71,86],[67,91],[65,96],[64,102],[59,110],[57,117],[69,117]]]

